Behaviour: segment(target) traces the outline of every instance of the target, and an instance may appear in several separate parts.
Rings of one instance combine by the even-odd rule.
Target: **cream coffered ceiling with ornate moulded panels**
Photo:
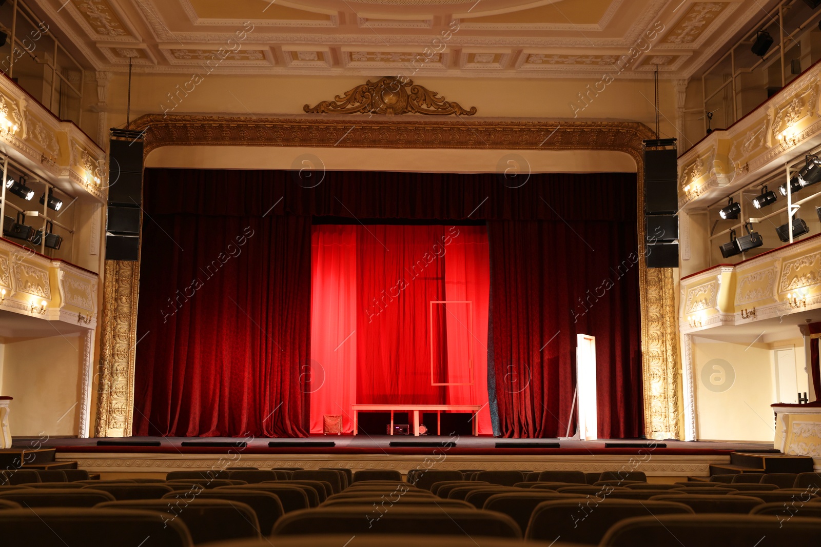
[[[775,0],[30,2],[102,71],[682,78]]]

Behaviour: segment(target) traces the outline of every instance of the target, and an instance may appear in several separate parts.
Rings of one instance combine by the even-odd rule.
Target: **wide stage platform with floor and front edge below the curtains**
[[[98,441],[131,445],[98,446]],[[242,443],[245,445],[237,445]],[[391,446],[391,442],[414,446]],[[158,446],[133,443],[159,443]],[[268,446],[268,443],[303,445]],[[335,443],[321,446],[315,443]],[[396,469],[544,469],[584,472],[643,471],[649,481],[686,480],[709,476],[710,464],[727,464],[732,452],[771,451],[771,443],[684,442],[679,440],[560,440],[501,439],[489,436],[449,437],[413,435],[314,435],[303,439],[227,437],[126,437],[122,439],[17,438],[17,447],[37,443],[57,449],[58,462],[76,461],[78,467],[105,478],[164,476],[169,471],[225,467],[348,467]],[[183,446],[183,443],[186,443]],[[211,446],[190,444],[208,443]],[[223,446],[213,446],[223,443]],[[428,446],[418,443],[429,444]],[[511,447],[510,444],[516,444]],[[558,443],[559,448],[539,444]],[[232,445],[229,445],[232,444]],[[314,445],[311,445],[314,444]],[[438,445],[430,445],[438,444]],[[455,445],[454,445],[455,444]],[[519,448],[532,445],[531,448]]]

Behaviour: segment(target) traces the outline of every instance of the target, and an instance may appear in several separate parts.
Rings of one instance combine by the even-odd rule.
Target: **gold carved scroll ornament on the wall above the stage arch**
[[[323,101],[315,107],[305,105],[305,112],[313,114],[429,114],[447,116],[473,116],[476,107],[470,110],[459,103],[446,101],[439,93],[413,80],[400,80],[396,76],[385,76],[372,82],[357,85],[333,101]]]

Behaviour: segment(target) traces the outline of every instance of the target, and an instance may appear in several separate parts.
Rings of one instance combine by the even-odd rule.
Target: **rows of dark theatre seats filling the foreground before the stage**
[[[393,471],[368,470],[355,474],[335,469],[273,471],[288,473],[272,475],[268,471],[245,468],[219,473],[173,472],[166,481],[57,481],[2,486],[0,526],[4,537],[8,530],[12,538],[30,537],[39,526],[40,536],[51,537],[53,541],[53,536],[49,536],[51,532],[61,538],[62,531],[70,536],[75,533],[71,530],[76,529],[78,522],[90,522],[89,519],[94,518],[131,522],[129,519],[134,517],[137,522],[134,526],[148,526],[144,533],[154,538],[144,547],[253,539],[269,534],[371,535],[423,531],[455,535],[470,531],[470,536],[510,540],[524,536],[548,542],[597,545],[609,541],[603,545],[631,545],[618,543],[623,535],[610,533],[627,520],[651,515],[656,522],[673,517],[695,522],[702,517],[715,517],[709,513],[716,512],[727,513],[722,515],[727,522],[749,523],[750,526],[742,526],[748,530],[760,526],[772,528],[773,523],[783,526],[784,522],[798,522],[789,526],[799,536],[810,529],[815,534],[821,531],[818,518],[821,504],[813,491],[821,485],[818,474],[805,477],[810,484],[805,490],[788,491],[778,489],[777,485],[767,488],[759,484],[755,486],[762,490],[750,490],[748,487],[754,485],[715,481],[655,485],[613,479],[611,475],[599,475],[599,479],[605,480],[594,485],[587,485],[586,478],[585,482],[576,483],[520,481],[508,484],[518,476],[510,472],[474,475],[475,472],[470,471],[470,474],[459,472],[456,478],[454,472],[428,470],[411,472],[411,484],[401,481],[401,475]],[[271,477],[277,478],[266,480]],[[780,496],[782,500],[768,504],[765,499],[768,495]],[[21,509],[24,513],[26,510],[34,513],[38,519],[20,518]],[[165,532],[149,534],[146,515],[162,521]],[[676,522],[670,521],[670,526],[678,526]],[[718,526],[718,521],[709,526]],[[156,543],[166,536],[171,543]],[[27,545],[40,544],[27,541]],[[765,542],[761,547],[764,545],[782,544]]]

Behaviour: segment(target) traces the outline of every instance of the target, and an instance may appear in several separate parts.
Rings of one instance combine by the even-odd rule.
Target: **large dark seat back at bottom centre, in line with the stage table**
[[[332,506],[287,513],[273,526],[273,536],[317,532],[465,536],[466,531],[470,536],[521,538],[519,526],[507,515],[451,507],[393,506],[382,513],[372,505]]]

